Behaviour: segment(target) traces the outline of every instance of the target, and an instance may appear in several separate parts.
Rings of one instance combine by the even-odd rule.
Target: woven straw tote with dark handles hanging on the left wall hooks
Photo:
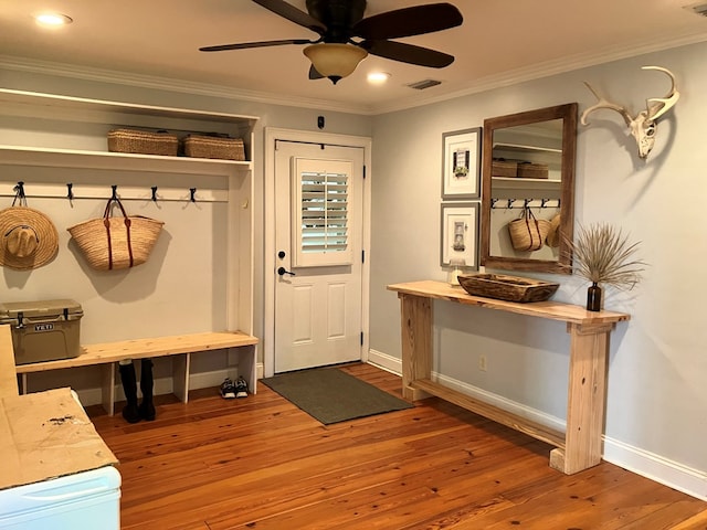
[[[112,216],[116,204],[122,218]],[[68,229],[82,254],[96,271],[130,268],[147,261],[162,230],[161,221],[125,213],[119,199],[110,198],[101,219],[84,221]]]

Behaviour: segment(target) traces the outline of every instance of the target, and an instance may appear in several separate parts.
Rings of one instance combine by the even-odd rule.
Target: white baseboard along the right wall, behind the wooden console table
[[[397,373],[398,375],[402,374],[402,361],[398,358],[380,351],[370,350],[368,359],[371,364],[376,364],[383,370]],[[566,428],[564,420],[526,406],[523,403],[508,400],[498,394],[487,392],[439,373],[433,372],[432,380],[505,411],[532,420],[541,425],[558,431],[564,431]],[[693,469],[680,463],[608,436],[603,436],[603,441],[604,460],[692,497],[707,500],[707,473]]]

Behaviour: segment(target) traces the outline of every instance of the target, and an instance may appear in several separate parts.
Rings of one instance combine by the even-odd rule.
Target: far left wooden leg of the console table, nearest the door
[[[432,375],[432,300],[399,294],[402,329],[402,395],[415,401],[430,394],[411,383]]]

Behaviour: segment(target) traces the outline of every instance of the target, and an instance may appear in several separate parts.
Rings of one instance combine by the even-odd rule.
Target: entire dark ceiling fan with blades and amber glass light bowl
[[[436,50],[394,42],[390,39],[421,35],[461,25],[462,13],[451,3],[440,2],[402,8],[363,18],[366,0],[306,0],[304,12],[285,0],[253,0],[258,6],[319,35],[316,40],[285,39],[204,46],[202,52],[249,47],[308,44],[309,78],[328,77],[334,84],[350,75],[370,53],[403,63],[443,68],[454,56]]]

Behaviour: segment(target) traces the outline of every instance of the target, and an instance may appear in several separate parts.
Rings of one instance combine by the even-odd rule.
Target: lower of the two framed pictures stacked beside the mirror
[[[462,263],[478,271],[478,203],[442,203],[442,244],[440,264]],[[452,262],[452,259],[457,259]]]

